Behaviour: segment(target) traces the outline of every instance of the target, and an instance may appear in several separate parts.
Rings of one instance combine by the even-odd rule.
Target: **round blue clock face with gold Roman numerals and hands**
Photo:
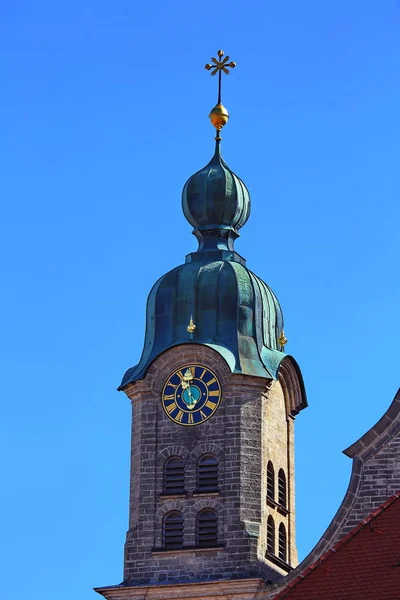
[[[201,365],[185,365],[165,382],[162,405],[168,417],[179,425],[207,421],[221,402],[218,377]]]

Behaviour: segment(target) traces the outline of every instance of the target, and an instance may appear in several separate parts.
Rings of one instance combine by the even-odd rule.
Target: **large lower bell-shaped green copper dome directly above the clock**
[[[282,331],[275,294],[244,265],[188,262],[163,275],[151,290],[143,354],[121,387],[141,379],[162,352],[187,343],[210,346],[234,373],[275,379],[285,357]]]

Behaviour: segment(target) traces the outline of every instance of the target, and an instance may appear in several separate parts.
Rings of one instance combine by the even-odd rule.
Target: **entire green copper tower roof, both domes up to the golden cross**
[[[218,102],[209,115],[216,129],[215,152],[189,177],[182,193],[183,212],[199,247],[151,290],[143,353],[125,373],[120,389],[142,379],[157,356],[179,344],[210,346],[232,372],[268,379],[277,379],[285,357],[280,304],[234,250],[250,215],[250,194],[220,153],[221,130],[229,118],[221,103],[221,74],[236,66],[223,56],[219,50],[218,59],[206,65],[212,75],[218,74]]]

